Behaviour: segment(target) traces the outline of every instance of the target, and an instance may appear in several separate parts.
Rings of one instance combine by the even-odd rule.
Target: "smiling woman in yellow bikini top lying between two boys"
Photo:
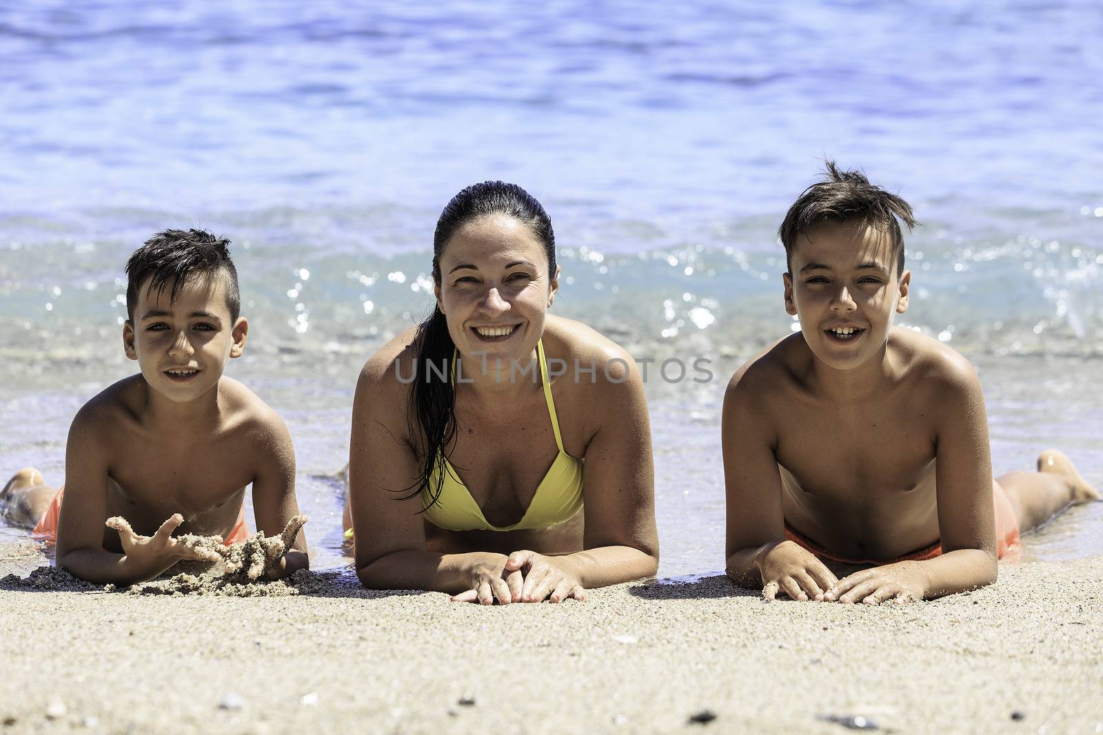
[[[547,314],[555,255],[516,185],[469,186],[441,213],[437,306],[356,386],[344,526],[365,587],[556,603],[655,573],[643,381],[615,344]]]

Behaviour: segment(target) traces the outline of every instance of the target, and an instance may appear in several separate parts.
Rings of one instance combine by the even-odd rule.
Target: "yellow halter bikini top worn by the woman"
[[[432,502],[429,487],[436,487],[440,469],[433,471],[429,487],[421,490],[421,506],[425,517],[435,526],[451,531],[515,531],[529,528],[552,528],[568,521],[582,508],[582,461],[567,454],[563,448],[563,436],[559,434],[559,419],[555,413],[555,401],[552,399],[552,383],[547,377],[547,361],[544,359],[544,341],[536,343],[536,355],[540,367],[540,381],[544,383],[544,400],[552,418],[552,429],[555,430],[555,443],[559,454],[548,468],[544,479],[536,487],[533,501],[520,521],[513,526],[493,526],[482,515],[479,504],[460,479],[460,476],[445,458],[445,483],[440,496]],[[456,365],[453,358],[452,365]],[[452,376],[454,380],[454,375]]]

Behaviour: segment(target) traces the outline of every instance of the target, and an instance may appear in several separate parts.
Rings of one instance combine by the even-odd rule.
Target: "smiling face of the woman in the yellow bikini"
[[[472,219],[448,240],[439,267],[437,304],[460,354],[492,367],[526,360],[559,288],[532,228],[508,215]]]

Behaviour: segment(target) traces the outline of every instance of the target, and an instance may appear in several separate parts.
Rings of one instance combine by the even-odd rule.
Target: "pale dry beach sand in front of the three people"
[[[0,575],[38,563],[0,545]],[[721,576],[506,607],[350,572],[276,584],[295,593],[9,581],[0,733],[1103,732],[1103,556],[878,608],[764,603]]]

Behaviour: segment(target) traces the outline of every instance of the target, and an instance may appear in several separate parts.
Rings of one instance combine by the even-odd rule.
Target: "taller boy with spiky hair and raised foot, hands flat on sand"
[[[911,285],[900,221],[915,225],[903,199],[828,163],[781,225],[801,329],[735,374],[722,419],[728,575],[769,599],[990,584],[1020,532],[1099,498],[1056,451],[993,480],[972,366],[892,326]],[[828,564],[868,569],[838,580]]]

